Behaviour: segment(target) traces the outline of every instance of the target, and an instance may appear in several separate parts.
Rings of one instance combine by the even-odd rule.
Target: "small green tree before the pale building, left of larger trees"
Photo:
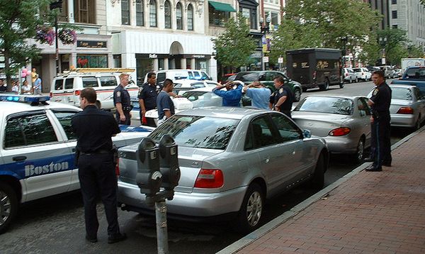
[[[224,33],[217,38],[212,38],[215,59],[223,67],[230,67],[234,72],[236,67],[251,63],[249,55],[256,49],[256,42],[249,35],[249,26],[241,12],[237,14],[236,18],[229,18],[225,28]]]

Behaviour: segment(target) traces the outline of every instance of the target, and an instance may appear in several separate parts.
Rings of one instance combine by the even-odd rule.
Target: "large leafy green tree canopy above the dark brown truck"
[[[271,50],[278,51],[273,55],[295,48],[343,48],[344,37],[346,49],[354,50],[368,43],[382,18],[363,1],[351,0],[291,0],[283,11],[283,22],[273,33],[279,38],[273,42]],[[280,45],[280,38],[292,41]]]

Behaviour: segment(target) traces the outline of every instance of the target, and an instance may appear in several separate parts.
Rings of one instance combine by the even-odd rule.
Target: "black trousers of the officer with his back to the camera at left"
[[[82,154],[78,161],[79,182],[84,201],[86,236],[96,238],[99,227],[96,201],[101,197],[108,221],[108,235],[120,233],[117,213],[117,176],[113,154]]]

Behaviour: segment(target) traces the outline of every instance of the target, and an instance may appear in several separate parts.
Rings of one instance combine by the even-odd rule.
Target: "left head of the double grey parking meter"
[[[141,193],[153,196],[159,192],[162,182],[162,175],[159,171],[158,147],[152,138],[143,138],[136,154],[136,183]]]

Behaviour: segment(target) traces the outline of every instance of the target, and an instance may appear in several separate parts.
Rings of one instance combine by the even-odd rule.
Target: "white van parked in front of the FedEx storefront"
[[[157,74],[157,84],[164,83],[165,79],[171,79],[175,81],[176,79],[198,79],[198,80],[212,80],[212,78],[204,72],[203,70],[190,70],[190,69],[176,69],[176,70],[158,70],[155,72]],[[147,82],[147,74],[145,76],[144,83]]]

